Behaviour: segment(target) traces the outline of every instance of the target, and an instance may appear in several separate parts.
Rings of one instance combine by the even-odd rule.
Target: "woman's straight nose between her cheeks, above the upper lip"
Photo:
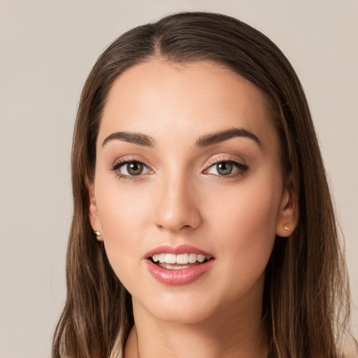
[[[199,199],[188,178],[163,180],[155,201],[155,225],[159,229],[180,233],[201,224]]]

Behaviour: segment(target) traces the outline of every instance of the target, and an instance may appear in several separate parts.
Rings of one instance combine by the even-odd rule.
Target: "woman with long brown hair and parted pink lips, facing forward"
[[[99,57],[53,356],[341,357],[349,290],[306,98],[263,34],[179,13]]]

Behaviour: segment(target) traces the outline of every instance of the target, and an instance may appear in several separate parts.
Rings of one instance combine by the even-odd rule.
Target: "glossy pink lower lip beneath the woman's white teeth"
[[[194,282],[199,277],[207,273],[211,266],[213,266],[214,259],[210,259],[205,264],[199,264],[182,270],[169,270],[153,264],[150,260],[145,260],[148,271],[159,282],[164,285],[188,285]]]

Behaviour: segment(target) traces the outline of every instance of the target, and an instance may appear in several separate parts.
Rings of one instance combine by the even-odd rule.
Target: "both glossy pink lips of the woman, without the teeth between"
[[[148,257],[156,254],[186,254],[193,253],[196,255],[204,255],[206,257],[211,257],[211,259],[204,263],[192,266],[189,268],[182,268],[180,270],[169,270],[168,268],[162,268],[148,259]],[[176,247],[170,245],[162,245],[157,248],[147,252],[143,259],[145,259],[145,264],[147,265],[148,271],[150,274],[159,282],[164,283],[165,285],[188,285],[191,282],[194,282],[199,277],[208,272],[213,266],[215,261],[213,255],[198,248],[194,248],[191,245],[179,245]]]

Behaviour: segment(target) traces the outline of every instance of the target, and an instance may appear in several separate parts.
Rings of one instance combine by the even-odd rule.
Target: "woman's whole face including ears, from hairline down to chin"
[[[122,73],[99,128],[90,218],[134,310],[179,322],[260,310],[275,235],[293,229],[282,177],[252,83],[208,62]]]

